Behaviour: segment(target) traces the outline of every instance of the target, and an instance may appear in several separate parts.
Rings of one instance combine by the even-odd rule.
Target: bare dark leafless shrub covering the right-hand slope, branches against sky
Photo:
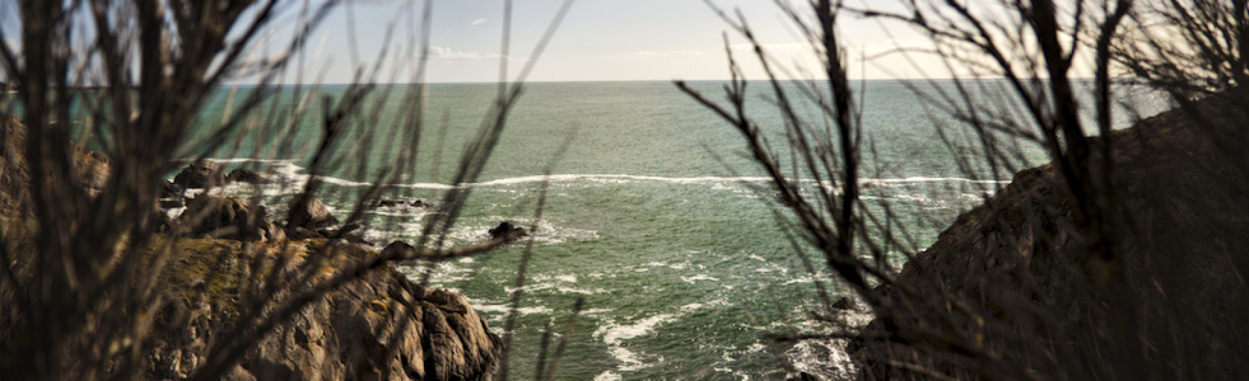
[[[1194,102],[1244,78],[1242,52],[1249,42],[1243,39],[1243,1],[899,1],[902,11],[856,9],[831,0],[803,1],[801,7],[776,2],[821,59],[818,80],[793,76],[802,70],[786,68],[771,57],[744,16],[719,12],[754,46],[753,59],[767,73],[763,86],[783,118],[781,144],[769,141],[772,136],[747,112],[744,90],[757,82],[742,78],[732,52],[727,102],[682,82],[677,86],[742,133],[754,162],[772,178],[771,190],[779,194],[778,223],[817,250],[837,284],[847,285],[846,291],[872,308],[874,321],[859,329],[833,319],[836,313],[823,306],[813,315],[834,332],[789,340],[852,339],[858,360],[864,361],[858,375],[863,379],[1140,380],[1245,374],[1233,360],[1245,350],[1237,339],[1243,330],[1209,316],[1217,313],[1180,311],[1184,306],[1173,299],[1178,296],[1168,295],[1200,295],[1192,298],[1209,301],[1210,309],[1234,305],[1237,296],[1194,291],[1185,284],[1194,281],[1190,275],[1167,275],[1168,266],[1183,263],[1177,259],[1182,253],[1202,253],[1184,255],[1195,263],[1234,264],[1222,270],[1205,268],[1222,274],[1220,279],[1238,279],[1244,266],[1225,250],[1192,247],[1202,234],[1157,238],[1158,223],[1193,220],[1178,217],[1192,210],[1140,209],[1158,197],[1174,200],[1202,192],[1179,186],[1183,181],[1162,169],[1167,167],[1159,161],[1175,162],[1173,171],[1193,171],[1190,182],[1200,178],[1209,184],[1210,178],[1223,178],[1212,188],[1244,188],[1235,181],[1244,174],[1238,153],[1244,133],[1228,128],[1249,121],[1239,107],[1229,106],[1243,98],[1224,92],[1218,96],[1223,100]],[[1022,146],[1042,149],[1052,163],[1014,174],[1012,187],[997,189],[985,205],[943,233],[936,247],[917,253],[887,204],[873,208],[859,198],[871,146],[862,138],[852,106],[858,98],[847,80],[837,32],[838,16],[847,12],[921,31],[932,41],[922,54],[939,57],[949,72],[967,73],[912,86],[923,102],[953,121],[938,131],[949,148],[979,152],[970,158],[955,156],[968,178],[1005,178],[1032,166]],[[1078,77],[1080,67],[1092,71],[1090,81]],[[1122,105],[1114,101],[1114,88],[1122,85],[1115,78],[1124,73],[1170,93],[1183,106],[1179,113],[1142,123],[1138,129],[1147,132],[1115,132],[1115,121],[1123,118],[1117,108]],[[807,103],[816,105],[818,116],[793,111]],[[1148,133],[1170,128],[1162,126],[1185,132],[1175,132],[1173,146],[1152,146],[1159,142]],[[1193,162],[1150,158],[1142,149],[1195,149],[1209,152],[1210,158],[1193,169],[1179,169],[1184,168],[1179,163]],[[1142,168],[1119,168],[1120,162]],[[1144,173],[1157,176],[1145,168],[1167,176],[1145,188],[1130,186],[1139,184],[1134,178]],[[1238,174],[1228,178],[1228,173]],[[839,192],[804,192],[798,184],[807,179],[836,184]],[[1219,212],[1194,208],[1209,215],[1242,210],[1240,205]],[[1175,228],[1192,232],[1210,224],[1219,230],[1238,225],[1222,220]],[[797,252],[802,255],[802,249]],[[908,256],[906,269],[889,265],[891,252]],[[1228,295],[1245,291],[1240,281],[1218,284]],[[1222,334],[1203,334],[1210,331]],[[1220,351],[1202,349],[1210,342]],[[1194,356],[1198,352],[1205,355]]]

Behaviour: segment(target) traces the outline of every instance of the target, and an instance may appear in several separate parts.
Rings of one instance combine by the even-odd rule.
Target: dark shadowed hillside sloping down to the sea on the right
[[[859,376],[1249,376],[1247,100],[1217,95],[1109,137],[1109,260],[1054,164],[1019,172],[876,290],[892,311],[852,342]]]

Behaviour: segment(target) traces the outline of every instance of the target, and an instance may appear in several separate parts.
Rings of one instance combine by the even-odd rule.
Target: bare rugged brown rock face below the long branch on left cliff
[[[217,268],[246,271],[239,263]],[[229,281],[186,285],[187,295],[199,301],[181,314],[189,316],[186,329],[177,330],[182,334],[161,341],[152,354],[149,377],[185,377],[206,361],[209,342],[226,340],[220,327],[231,324],[236,304],[231,293],[237,290],[220,289],[221,284]],[[363,271],[279,325],[226,379],[490,380],[500,350],[498,336],[463,295],[421,288],[386,264]]]

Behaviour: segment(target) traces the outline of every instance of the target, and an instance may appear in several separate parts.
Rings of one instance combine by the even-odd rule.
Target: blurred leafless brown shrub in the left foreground
[[[20,144],[20,159],[31,174],[29,189],[16,193],[29,199],[24,204],[29,208],[5,217],[0,237],[0,305],[5,306],[0,315],[0,369],[5,379],[136,377],[157,339],[181,329],[157,324],[156,316],[181,303],[164,293],[169,286],[164,274],[180,255],[175,243],[187,233],[186,225],[175,223],[171,232],[160,233],[160,223],[151,218],[159,212],[157,184],[186,164],[181,158],[222,151],[306,158],[310,176],[296,189],[296,209],[323,192],[321,176],[330,171],[370,177],[371,186],[353,194],[356,208],[348,223],[360,220],[362,207],[387,186],[422,176],[415,168],[427,129],[422,81],[432,17],[431,1],[423,4],[405,12],[407,25],[418,29],[407,30],[406,45],[391,44],[392,27],[385,36],[387,47],[373,64],[361,64],[358,52],[352,52],[357,76],[342,96],[318,97],[315,85],[305,85],[316,81],[304,72],[305,47],[332,10],[346,7],[350,14],[350,1],[0,2],[0,19],[21,24],[20,49],[0,39],[0,68],[19,90],[16,103],[27,127],[24,137],[2,139],[6,152],[10,143]],[[453,169],[456,186],[480,176],[525,77],[570,4],[560,10],[522,75],[501,78],[488,120]],[[507,6],[510,15],[510,1]],[[296,21],[290,40],[270,41],[269,32],[290,19]],[[505,29],[505,52],[507,32]],[[284,54],[256,57],[272,45]],[[410,60],[413,56],[417,60]],[[383,66],[388,61],[397,64]],[[507,73],[506,60],[502,65],[501,72]],[[383,67],[393,67],[393,72],[383,72]],[[375,85],[387,75],[413,85]],[[285,82],[292,77],[295,83]],[[224,120],[202,136],[192,136],[190,127],[214,91],[240,80],[255,86],[231,91],[231,108]],[[390,97],[402,100],[413,112],[383,121],[382,108],[373,105]],[[311,151],[301,149],[296,139],[307,128],[317,129],[310,133],[317,137]],[[393,134],[378,136],[381,131]],[[366,142],[361,146],[367,147],[347,149],[347,142]],[[80,173],[90,168],[76,159],[79,144],[107,157],[111,176],[99,189],[80,186]],[[395,159],[383,168],[343,161],[346,154],[370,149]],[[191,377],[220,379],[276,325],[367,269],[395,260],[473,255],[506,244],[505,239],[448,247],[446,234],[470,194],[468,187],[447,192],[441,202],[447,213],[426,222],[411,250],[357,253],[331,240],[310,247],[304,260],[277,255],[271,263],[254,261],[235,273],[207,275],[247,274],[249,279],[239,285],[241,301],[234,325],[221,327],[224,334],[207,344],[206,357]],[[255,192],[251,203],[260,200],[261,192]],[[29,227],[20,223],[24,220],[31,222]],[[285,244],[276,250],[294,249]],[[336,268],[328,276],[322,274],[327,263]],[[548,372],[555,367],[552,364]]]

